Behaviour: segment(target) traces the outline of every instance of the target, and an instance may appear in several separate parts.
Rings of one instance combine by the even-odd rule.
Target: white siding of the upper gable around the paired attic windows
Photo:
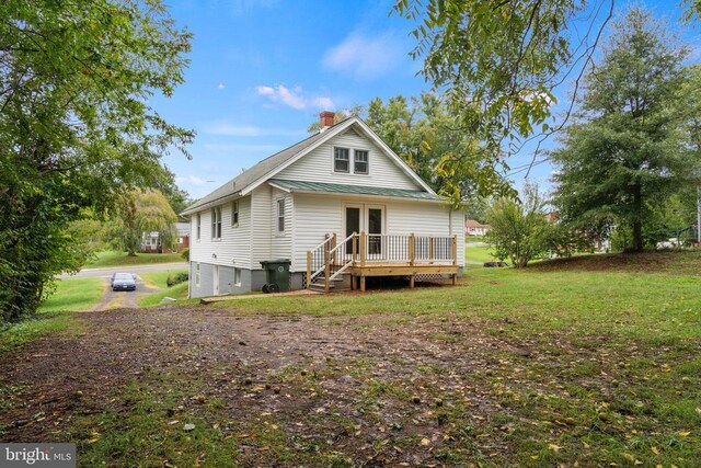
[[[333,170],[333,148],[343,147],[350,149],[368,150],[368,174],[340,173]],[[350,165],[353,164],[353,151],[350,151]],[[370,139],[365,138],[354,130],[337,135],[319,146],[303,158],[292,163],[275,175],[276,179],[289,179],[306,182],[325,182],[348,185],[366,185],[378,187],[394,187],[420,190],[421,186],[397,165],[380,148]]]

